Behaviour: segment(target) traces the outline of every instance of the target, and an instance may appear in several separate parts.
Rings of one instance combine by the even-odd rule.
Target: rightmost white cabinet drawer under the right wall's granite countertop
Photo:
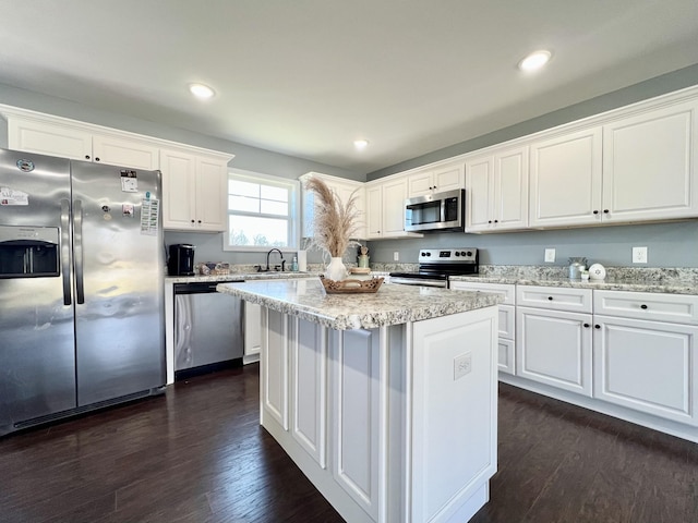
[[[593,312],[605,316],[698,324],[698,296],[652,292],[594,291]]]

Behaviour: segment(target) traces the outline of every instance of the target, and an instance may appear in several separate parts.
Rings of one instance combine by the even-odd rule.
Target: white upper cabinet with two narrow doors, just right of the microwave
[[[528,146],[491,151],[466,161],[466,231],[528,226]]]

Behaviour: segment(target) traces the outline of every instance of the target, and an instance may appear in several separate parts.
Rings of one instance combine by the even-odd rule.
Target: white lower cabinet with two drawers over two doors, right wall
[[[501,379],[698,442],[698,296],[516,289],[516,375]]]

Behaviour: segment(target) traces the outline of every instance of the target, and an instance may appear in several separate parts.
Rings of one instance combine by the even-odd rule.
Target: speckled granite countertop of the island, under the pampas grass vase
[[[320,278],[221,283],[217,290],[337,330],[419,321],[502,301],[486,292],[385,283],[376,293],[327,294]]]

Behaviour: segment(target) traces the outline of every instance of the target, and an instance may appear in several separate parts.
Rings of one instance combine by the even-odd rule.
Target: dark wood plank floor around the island
[[[260,428],[257,372],[0,439],[0,521],[342,521]],[[698,522],[698,446],[502,385],[472,521]]]

